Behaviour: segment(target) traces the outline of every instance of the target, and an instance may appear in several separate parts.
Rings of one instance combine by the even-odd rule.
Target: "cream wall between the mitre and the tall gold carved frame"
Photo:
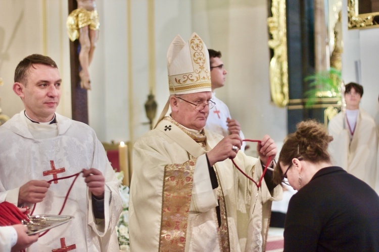
[[[270,101],[267,3],[259,1],[195,1],[194,27],[208,48],[220,50],[227,70],[217,97],[241,123],[247,139],[270,135],[276,142],[287,135],[287,110]],[[199,12],[197,10],[200,10]],[[212,111],[211,111],[212,112]],[[253,154],[255,145],[247,152]]]

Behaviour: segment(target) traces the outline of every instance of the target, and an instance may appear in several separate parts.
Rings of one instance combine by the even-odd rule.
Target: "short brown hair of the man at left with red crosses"
[[[58,69],[56,62],[51,57],[41,54],[31,54],[21,60],[17,65],[14,81],[26,85],[27,72],[31,67],[33,67],[34,64],[48,65]]]

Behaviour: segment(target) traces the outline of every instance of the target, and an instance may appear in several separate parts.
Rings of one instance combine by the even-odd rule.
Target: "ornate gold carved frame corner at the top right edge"
[[[349,29],[370,28],[379,26],[379,12],[360,13],[358,9],[359,1],[363,0],[348,0],[348,27]]]

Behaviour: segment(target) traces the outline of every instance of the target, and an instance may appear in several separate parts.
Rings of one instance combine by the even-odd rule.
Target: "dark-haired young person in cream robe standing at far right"
[[[375,190],[379,181],[376,171],[377,132],[374,119],[359,107],[363,87],[357,83],[345,86],[346,112],[329,121],[329,144],[332,163],[362,179]],[[378,193],[378,192],[377,192]]]

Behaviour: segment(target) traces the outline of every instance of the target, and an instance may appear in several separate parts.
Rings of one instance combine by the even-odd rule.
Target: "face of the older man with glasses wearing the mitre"
[[[212,98],[211,92],[200,92],[193,94],[184,94],[177,96],[176,105],[172,107],[172,117],[186,128],[201,131],[205,127],[209,114],[209,107],[197,110],[196,105],[199,103],[209,103]],[[193,103],[193,104],[191,104]]]

